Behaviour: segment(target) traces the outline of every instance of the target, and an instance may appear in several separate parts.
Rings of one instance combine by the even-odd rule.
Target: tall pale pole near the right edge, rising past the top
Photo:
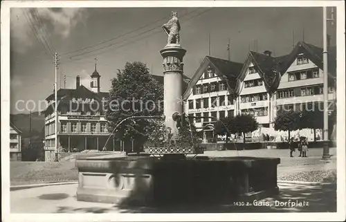
[[[330,158],[328,140],[328,40],[327,21],[334,20],[334,13],[331,19],[327,19],[327,7],[323,7],[323,154],[322,160]]]

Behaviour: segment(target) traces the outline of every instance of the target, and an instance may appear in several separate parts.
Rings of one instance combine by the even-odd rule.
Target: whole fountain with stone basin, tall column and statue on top
[[[173,138],[176,120],[183,116],[183,57],[176,12],[163,29],[167,45],[163,57],[165,126]],[[137,117],[138,118],[138,117]],[[145,118],[145,117],[143,117]],[[147,117],[153,118],[153,117]],[[78,201],[138,205],[180,205],[259,199],[278,192],[280,158],[209,158],[192,147],[147,146],[150,156],[78,158]],[[157,158],[156,156],[162,156]]]

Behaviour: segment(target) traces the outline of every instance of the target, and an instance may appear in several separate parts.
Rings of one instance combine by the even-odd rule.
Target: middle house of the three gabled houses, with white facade
[[[280,84],[281,64],[287,55],[272,57],[271,51],[250,51],[239,73],[237,114],[254,115],[260,127],[270,127],[273,120],[273,93]]]

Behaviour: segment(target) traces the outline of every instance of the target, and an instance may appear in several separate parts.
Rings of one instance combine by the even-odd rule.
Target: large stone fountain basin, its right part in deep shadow
[[[78,158],[78,201],[117,205],[231,203],[278,192],[280,158]]]

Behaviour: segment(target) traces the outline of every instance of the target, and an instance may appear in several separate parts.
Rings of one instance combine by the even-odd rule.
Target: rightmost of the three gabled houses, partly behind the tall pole
[[[323,109],[323,50],[303,41],[293,48],[281,67],[280,84],[275,91],[275,113],[287,110]],[[328,100],[334,109],[336,80],[336,50],[328,53]]]

